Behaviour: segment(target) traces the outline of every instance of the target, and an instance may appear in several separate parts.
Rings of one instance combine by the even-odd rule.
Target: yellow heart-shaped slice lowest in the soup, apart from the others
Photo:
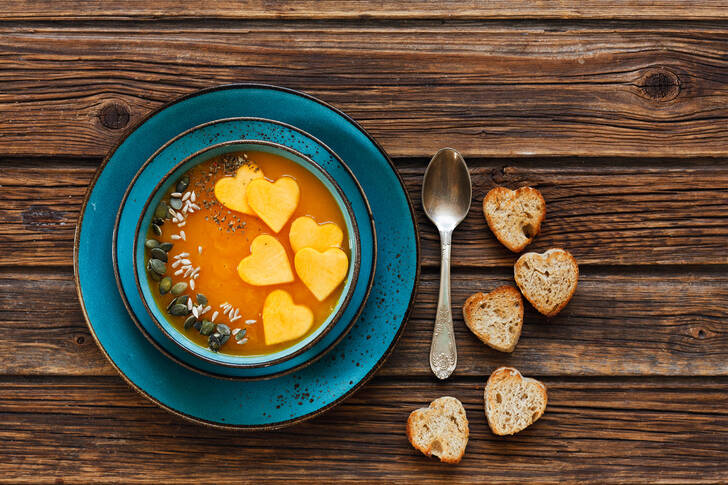
[[[274,290],[263,303],[265,344],[275,345],[303,337],[313,326],[313,312],[305,305],[295,305],[284,290]]]

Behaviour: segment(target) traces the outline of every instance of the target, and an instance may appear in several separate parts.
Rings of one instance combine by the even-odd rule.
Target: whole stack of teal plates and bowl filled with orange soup
[[[402,333],[419,267],[381,147],[335,108],[261,85],[194,93],[125,135],[74,256],[92,335],[129,384],[235,429],[300,422],[363,385]]]

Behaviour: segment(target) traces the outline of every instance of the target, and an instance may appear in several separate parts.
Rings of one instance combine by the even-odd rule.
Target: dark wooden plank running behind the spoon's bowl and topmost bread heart
[[[423,265],[439,264],[437,234],[421,209],[427,160],[399,161],[417,209]],[[529,247],[562,246],[582,265],[726,264],[728,168],[718,162],[471,160],[473,206],[454,236],[453,264],[507,267],[515,256],[488,229],[485,193],[538,187],[547,201]],[[68,266],[91,162],[0,161],[0,265]],[[111,216],[115,208],[109,209]]]

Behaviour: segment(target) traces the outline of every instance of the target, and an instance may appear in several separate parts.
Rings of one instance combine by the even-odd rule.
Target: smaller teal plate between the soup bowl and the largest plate
[[[144,302],[137,291],[132,247],[134,245],[136,224],[141,218],[150,186],[154,186],[161,180],[180,160],[197,153],[207,146],[253,137],[280,144],[285,143],[286,146],[309,156],[336,180],[341,190],[347,195],[355,219],[360,221],[359,238],[362,254],[359,279],[349,305],[336,326],[320,342],[286,362],[268,367],[241,369],[215,365],[196,358],[180,349],[162,333],[145,310]],[[371,221],[371,224],[365,223],[367,220]],[[326,145],[285,123],[259,118],[217,120],[194,127],[170,140],[157,150],[136,174],[122,201],[114,232],[116,275],[119,278],[119,284],[123,288],[122,297],[125,298],[135,323],[144,335],[150,338],[153,344],[159,346],[160,350],[165,352],[169,358],[182,365],[189,366],[193,370],[199,370],[216,377],[237,379],[270,378],[274,375],[278,376],[291,372],[321,357],[339,342],[356,321],[363,309],[374,276],[374,262],[376,259],[374,234],[369,203],[361,191],[359,183],[351,174],[349,168]]]

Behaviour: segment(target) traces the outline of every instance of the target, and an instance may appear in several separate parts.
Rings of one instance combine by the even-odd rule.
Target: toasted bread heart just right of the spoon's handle
[[[465,325],[484,344],[513,352],[523,327],[523,299],[512,286],[501,286],[487,295],[476,293],[463,305]]]

